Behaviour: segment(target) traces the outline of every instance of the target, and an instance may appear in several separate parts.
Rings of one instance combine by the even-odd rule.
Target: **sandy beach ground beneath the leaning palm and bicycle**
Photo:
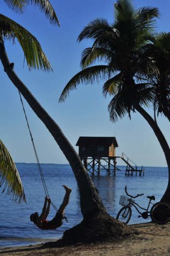
[[[155,223],[141,223],[132,225],[140,231],[140,234],[129,237],[120,242],[102,243],[99,245],[79,245],[64,246],[61,248],[44,248],[43,244],[1,248],[0,254],[10,255],[29,255],[29,256],[154,256],[170,255],[170,223],[157,225]]]

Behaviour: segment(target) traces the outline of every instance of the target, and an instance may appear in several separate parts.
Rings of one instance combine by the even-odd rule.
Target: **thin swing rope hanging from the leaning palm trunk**
[[[23,105],[23,101],[22,101],[22,96],[20,94],[20,91],[19,91],[19,96],[20,96],[20,101],[22,103],[22,108],[23,108],[23,113],[25,114],[25,119],[26,119],[26,123],[27,123],[27,126],[28,126],[28,130],[29,130],[29,135],[31,137],[31,142],[32,142],[32,146],[34,148],[34,153],[35,153],[35,157],[37,159],[37,164],[38,164],[38,169],[40,171],[40,176],[41,176],[41,180],[42,180],[42,183],[43,183],[43,187],[44,187],[44,192],[46,194],[46,196],[49,198],[49,192],[47,190],[47,186],[46,186],[46,182],[44,180],[44,175],[43,175],[43,170],[41,169],[41,164],[40,164],[40,161],[38,159],[38,154],[37,154],[37,151],[36,151],[36,148],[35,148],[35,145],[34,145],[34,140],[33,140],[33,137],[32,137],[32,134],[31,134],[31,130],[30,130],[30,127],[29,127],[29,123],[28,123],[28,118],[26,116],[26,112],[25,112],[25,107]],[[55,204],[53,204],[53,202],[51,201],[50,204],[52,205],[52,207],[58,211],[58,208],[56,208]]]

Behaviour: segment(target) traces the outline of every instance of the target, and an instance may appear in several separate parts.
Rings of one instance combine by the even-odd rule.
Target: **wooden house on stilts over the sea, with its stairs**
[[[79,146],[80,159],[92,175],[95,173],[100,175],[102,170],[106,171],[107,175],[111,173],[115,175],[117,170],[120,170],[117,167],[117,158],[121,158],[126,163],[127,176],[133,173],[144,175],[144,168],[139,169],[125,154],[121,157],[116,156],[118,143],[115,137],[79,137],[76,146]]]

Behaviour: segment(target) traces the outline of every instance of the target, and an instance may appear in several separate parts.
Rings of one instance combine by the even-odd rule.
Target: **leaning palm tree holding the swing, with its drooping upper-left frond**
[[[11,1],[13,3],[13,1]],[[35,3],[44,1],[35,1]],[[46,2],[46,1],[45,1]],[[44,5],[46,7],[46,5]],[[46,13],[46,11],[45,11]],[[37,99],[29,92],[28,88],[14,72],[14,63],[10,63],[7,52],[5,51],[5,40],[13,39],[19,42],[25,54],[25,59],[29,69],[38,68],[43,70],[51,70],[49,61],[46,58],[40,43],[32,36],[29,31],[25,30],[14,20],[0,15],[0,59],[4,66],[4,71],[26,99],[32,110],[37,114],[41,121],[46,125],[49,132],[52,134],[56,143],[58,143],[71,168],[73,169],[80,192],[80,207],[83,215],[83,221],[75,228],[70,229],[64,234],[65,240],[69,243],[86,241],[93,242],[94,240],[108,240],[115,236],[127,236],[132,234],[131,228],[121,225],[120,222],[112,218],[106,213],[103,202],[100,199],[96,187],[88,176],[87,170],[82,164],[79,156],[73,147],[68,142],[67,138],[62,133],[56,122],[49,116],[44,108],[38,103]],[[76,230],[76,231],[74,231]],[[75,233],[76,232],[76,233]],[[74,235],[73,235],[74,234]],[[75,234],[78,234],[75,237]],[[83,235],[82,235],[83,234]]]

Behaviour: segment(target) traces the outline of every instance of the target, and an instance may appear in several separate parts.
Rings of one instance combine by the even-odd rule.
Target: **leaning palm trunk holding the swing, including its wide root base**
[[[62,240],[58,243],[93,243],[117,239],[118,237],[127,237],[133,234],[133,229],[123,223],[115,220],[106,213],[105,207],[100,200],[96,187],[88,176],[87,170],[82,164],[79,156],[62,133],[59,126],[47,114],[43,107],[38,103],[34,96],[29,92],[26,86],[19,80],[16,73],[10,66],[4,43],[0,42],[0,59],[4,66],[5,72],[17,87],[23,97],[26,99],[35,114],[46,125],[52,134],[59,148],[61,148],[67,158],[76,178],[80,192],[80,207],[83,214],[83,220],[78,225],[64,232]]]

